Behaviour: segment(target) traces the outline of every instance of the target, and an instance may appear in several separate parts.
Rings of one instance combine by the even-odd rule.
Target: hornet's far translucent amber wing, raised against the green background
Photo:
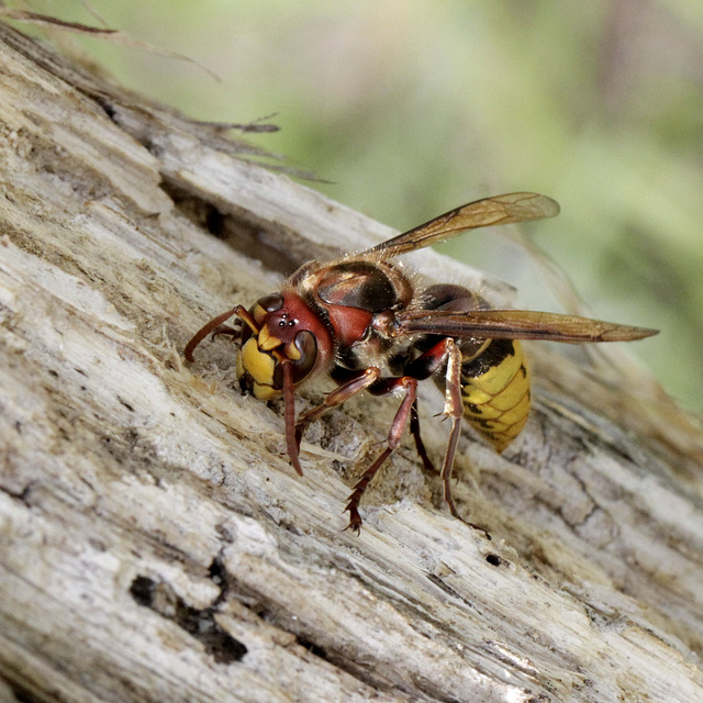
[[[377,244],[365,254],[375,252],[380,254],[382,258],[391,258],[405,252],[444,242],[465,230],[528,220],[544,220],[558,214],[559,204],[551,198],[537,193],[507,193],[494,198],[483,198],[451,210],[387,242]]]

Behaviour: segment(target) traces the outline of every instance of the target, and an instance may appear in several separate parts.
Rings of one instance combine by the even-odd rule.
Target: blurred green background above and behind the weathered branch
[[[33,3],[99,24],[78,2]],[[399,230],[536,190],[529,225],[591,313],[658,327],[633,345],[703,410],[703,2],[699,0],[90,0],[108,26],[197,66],[80,40],[123,83],[201,120],[276,112],[249,141]],[[350,248],[354,243],[349,243]],[[449,245],[445,245],[448,247]],[[559,310],[495,233],[447,249]]]

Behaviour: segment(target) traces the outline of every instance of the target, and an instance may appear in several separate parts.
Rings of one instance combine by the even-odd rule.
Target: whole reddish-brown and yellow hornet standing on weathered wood
[[[185,356],[192,361],[193,350],[211,333],[239,339],[241,387],[264,401],[282,393],[288,456],[300,476],[300,440],[311,422],[362,390],[400,395],[387,447],[348,498],[346,511],[355,532],[361,526],[364,491],[408,426],[425,469],[434,471],[420,436],[416,399],[417,381],[433,378],[444,392],[443,414],[451,421],[440,471],[444,500],[458,517],[450,477],[461,417],[499,453],[527,421],[529,372],[518,339],[623,342],[657,331],[574,315],[495,310],[461,286],[417,290],[392,259],[465,230],[554,217],[558,212],[554,200],[536,193],[486,198],[360,254],[309,261],[280,292],[259,299],[249,310],[235,305],[211,320],[188,343]],[[241,330],[224,326],[233,315],[242,321]],[[323,372],[336,388],[295,421],[295,389]]]

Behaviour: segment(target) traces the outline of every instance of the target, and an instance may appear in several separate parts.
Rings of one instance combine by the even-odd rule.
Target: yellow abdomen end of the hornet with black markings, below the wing
[[[493,339],[461,367],[464,417],[501,453],[529,414],[529,371],[516,339]]]

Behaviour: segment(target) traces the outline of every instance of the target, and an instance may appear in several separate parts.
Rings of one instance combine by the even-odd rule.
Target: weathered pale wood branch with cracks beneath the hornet
[[[462,437],[458,505],[491,540],[410,443],[343,532],[391,401],[315,423],[299,479],[232,345],[181,352],[389,231],[1,24],[0,65],[0,698],[703,700],[703,440],[631,392],[627,352],[539,347],[524,435],[501,457]]]

